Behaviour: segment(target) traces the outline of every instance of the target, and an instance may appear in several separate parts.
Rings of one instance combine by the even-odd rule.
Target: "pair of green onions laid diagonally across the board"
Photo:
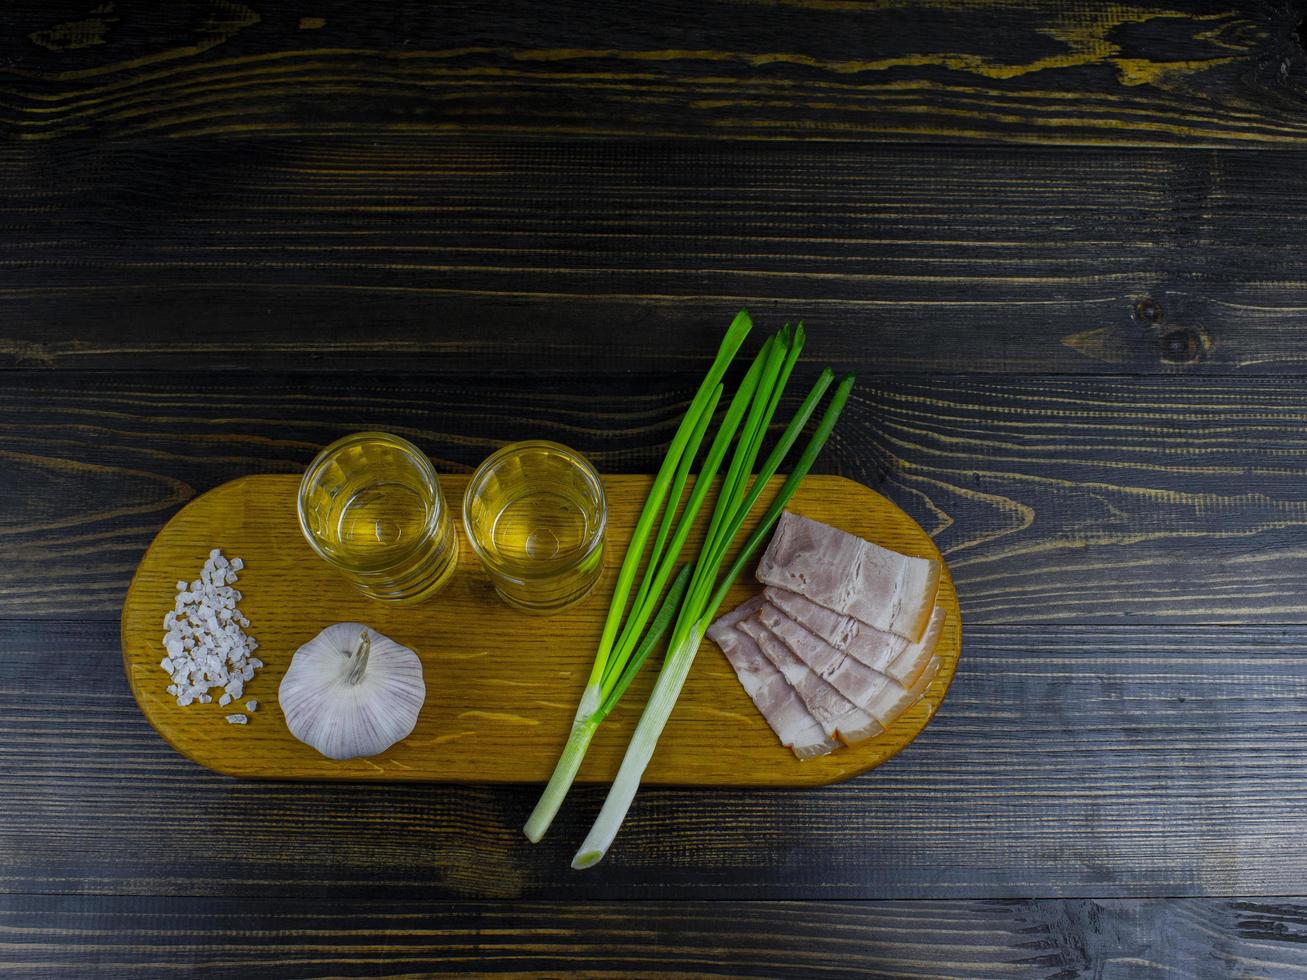
[[[678,514],[694,460],[698,457],[724,392],[721,378],[750,328],[749,315],[741,311],[727,331],[718,355],[690,401],[690,408],[686,410],[663,465],[654,478],[650,494],[644,500],[644,508],[637,520],[630,545],[618,570],[595,665],[582,694],[571,733],[553,776],[524,827],[525,835],[533,841],[538,841],[544,836],[580,770],[582,760],[599,725],[613,711],[652,649],[674,623],[672,640],[668,644],[669,653],[654,694],[633,737],[608,802],[589,838],[587,838],[586,845],[574,861],[576,868],[586,868],[599,861],[608,844],[612,843],[626,809],[634,798],[640,775],[652,755],[654,745],[657,742],[663,725],[680,695],[703,632],[731,584],[775,525],[780,511],[812,466],[848,399],[848,389],[852,385],[851,378],[840,384],[821,425],[800,457],[799,465],[763,514],[725,578],[718,583],[718,572],[725,561],[731,544],[758,503],[769,481],[793,447],[833,379],[829,370],[822,372],[750,482],[749,477],[762,448],[763,438],[804,346],[802,324],[793,331],[786,327],[769,337],[732,396],[694,478],[689,499]],[[718,490],[698,558],[693,564],[685,563],[677,570],[685,542],[732,446],[735,451]],[[659,520],[660,514],[661,520]],[[655,520],[659,520],[656,533],[654,533]],[[650,545],[651,536],[652,545]],[[630,609],[627,609],[627,601],[635,585],[635,575],[642,559],[644,559],[646,550],[648,550],[648,557],[644,578],[635,592],[634,601],[630,602]],[[674,579],[672,578],[673,571],[676,572]],[[667,589],[667,595],[659,602],[664,589]],[[625,802],[622,802],[623,798]]]

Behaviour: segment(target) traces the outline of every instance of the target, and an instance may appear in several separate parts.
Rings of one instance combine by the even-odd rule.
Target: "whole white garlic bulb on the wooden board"
[[[409,736],[426,683],[408,647],[336,623],[295,651],[277,698],[295,738],[329,759],[357,759]]]

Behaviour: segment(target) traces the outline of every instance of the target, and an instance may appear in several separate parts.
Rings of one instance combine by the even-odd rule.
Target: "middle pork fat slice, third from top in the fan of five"
[[[789,647],[791,653],[876,719],[882,728],[893,725],[899,715],[921,699],[938,670],[938,659],[927,656],[921,669],[911,679],[901,682],[868,669],[821,636],[810,634],[771,604],[758,610],[758,619]]]

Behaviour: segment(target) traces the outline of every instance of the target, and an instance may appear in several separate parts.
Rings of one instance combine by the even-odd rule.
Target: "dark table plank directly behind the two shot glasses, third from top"
[[[1304,622],[1300,382],[860,378],[818,470],[872,486],[936,538],[968,625]],[[179,506],[244,474],[303,472],[349,431],[404,435],[443,473],[524,438],[574,446],[601,472],[652,472],[693,384],[9,372],[0,617],[116,619]]]

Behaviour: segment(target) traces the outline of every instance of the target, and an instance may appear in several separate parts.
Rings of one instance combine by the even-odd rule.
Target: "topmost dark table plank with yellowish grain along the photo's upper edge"
[[[1210,0],[20,0],[0,37],[0,127],[41,141],[498,132],[1302,145],[1302,16],[1297,4]]]

